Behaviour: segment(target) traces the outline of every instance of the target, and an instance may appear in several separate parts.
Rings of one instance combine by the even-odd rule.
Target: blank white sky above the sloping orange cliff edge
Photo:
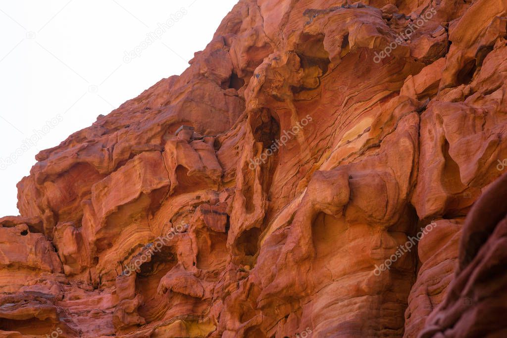
[[[0,217],[18,214],[16,183],[39,151],[182,73],[237,1],[0,0]]]

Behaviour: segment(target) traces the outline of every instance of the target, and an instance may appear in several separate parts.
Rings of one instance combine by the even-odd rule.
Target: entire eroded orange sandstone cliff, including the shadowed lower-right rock
[[[241,0],[37,155],[0,337],[502,336],[506,39],[505,0]]]

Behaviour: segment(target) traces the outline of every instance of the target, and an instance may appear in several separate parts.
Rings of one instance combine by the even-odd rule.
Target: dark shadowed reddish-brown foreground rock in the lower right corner
[[[449,292],[420,337],[502,336],[507,306],[507,174],[495,181],[463,226],[459,264]]]

